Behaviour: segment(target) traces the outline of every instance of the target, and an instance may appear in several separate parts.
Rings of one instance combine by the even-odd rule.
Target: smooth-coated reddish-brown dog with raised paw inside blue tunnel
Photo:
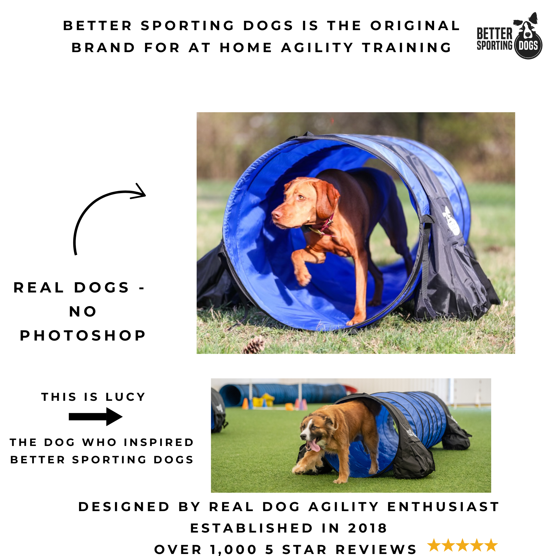
[[[303,227],[305,249],[294,251],[291,260],[300,286],[311,281],[306,262],[320,264],[326,253],[353,257],[355,264],[355,314],[346,324],[366,319],[367,272],[375,282],[369,305],[381,305],[382,272],[371,260],[369,237],[376,224],[384,228],[390,244],[403,256],[411,274],[413,260],[408,248],[408,228],[396,186],[379,187],[366,168],[350,173],[323,170],[316,177],[297,177],[284,186],[284,202],[272,211],[272,222],[282,229]]]

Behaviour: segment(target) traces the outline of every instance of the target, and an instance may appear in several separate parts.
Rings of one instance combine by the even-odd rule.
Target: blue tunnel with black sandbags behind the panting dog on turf
[[[371,459],[363,443],[355,439],[350,445],[349,465],[351,477],[379,476],[394,470],[396,478],[416,479],[435,470],[433,454],[429,448],[442,442],[446,450],[466,450],[469,437],[451,416],[448,406],[430,392],[380,392],[378,394],[352,394],[338,400],[360,399],[365,403],[379,403],[380,413],[376,416],[379,433],[379,472],[369,475]],[[305,454],[305,445],[300,448],[299,461]],[[324,467],[320,473],[339,469],[338,456],[325,454]],[[313,473],[310,473],[313,474]]]

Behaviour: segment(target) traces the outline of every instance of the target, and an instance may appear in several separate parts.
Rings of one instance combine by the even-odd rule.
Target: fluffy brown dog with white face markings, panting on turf
[[[301,421],[301,440],[305,440],[305,455],[291,470],[296,475],[316,471],[322,466],[324,452],[333,452],[340,461],[339,477],[334,483],[347,483],[349,477],[349,445],[363,436],[365,451],[371,457],[369,475],[379,470],[379,433],[375,416],[381,406],[374,400],[357,399],[343,404],[325,405]],[[322,449],[322,450],[321,450]]]

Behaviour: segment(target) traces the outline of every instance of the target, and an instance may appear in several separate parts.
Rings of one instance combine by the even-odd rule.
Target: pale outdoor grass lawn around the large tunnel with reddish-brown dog
[[[222,238],[222,219],[234,183],[197,183],[197,259]],[[231,325],[244,310],[197,310],[197,353],[241,353],[252,337],[265,338],[264,353],[515,353],[515,187],[492,183],[466,186],[471,201],[470,245],[492,281],[502,305],[477,321],[416,322],[398,307],[365,329],[313,332],[294,330],[257,309],[246,325]],[[418,237],[418,220],[404,186],[398,187],[408,222],[408,244]],[[397,255],[380,226],[371,236],[371,253],[379,266]]]

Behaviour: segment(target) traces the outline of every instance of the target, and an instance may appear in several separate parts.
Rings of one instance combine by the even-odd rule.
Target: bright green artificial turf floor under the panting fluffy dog
[[[320,404],[309,405],[309,412]],[[332,481],[337,474],[294,475],[306,413],[226,408],[229,426],[212,434],[212,492],[490,492],[490,408],[451,411],[473,435],[467,450],[431,448],[436,471],[424,479],[377,478]]]

